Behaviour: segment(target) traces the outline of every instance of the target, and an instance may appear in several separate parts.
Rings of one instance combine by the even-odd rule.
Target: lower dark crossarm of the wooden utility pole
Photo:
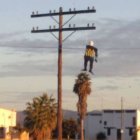
[[[96,27],[73,27],[73,28],[62,28],[61,30],[58,29],[41,29],[41,30],[35,30],[33,29],[31,33],[46,33],[46,32],[59,32],[59,31],[80,31],[80,30],[95,30]]]

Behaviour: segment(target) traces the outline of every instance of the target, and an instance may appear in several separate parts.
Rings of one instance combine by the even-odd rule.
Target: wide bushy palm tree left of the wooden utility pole
[[[27,103],[24,126],[33,140],[49,139],[51,131],[56,127],[57,103],[52,96],[43,94]]]

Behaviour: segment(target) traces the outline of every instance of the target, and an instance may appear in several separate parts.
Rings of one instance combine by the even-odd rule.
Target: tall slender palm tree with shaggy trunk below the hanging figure
[[[90,76],[87,73],[80,73],[75,81],[73,92],[78,95],[77,110],[80,117],[81,140],[84,140],[84,117],[87,113],[87,96],[91,93]]]

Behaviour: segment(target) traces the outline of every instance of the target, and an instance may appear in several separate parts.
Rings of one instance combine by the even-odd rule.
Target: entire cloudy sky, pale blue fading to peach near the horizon
[[[94,6],[96,13],[76,15],[70,23],[76,26],[95,23],[97,29],[76,32],[63,44],[64,108],[76,109],[77,98],[72,87],[83,67],[88,40],[94,40],[99,49],[89,109],[118,108],[121,96],[125,98],[126,108],[140,107],[139,5],[138,0],[3,0],[0,4],[0,106],[24,109],[26,102],[42,92],[57,96],[58,42],[51,34],[31,34],[33,26],[48,28],[57,24],[51,18],[30,18],[32,11],[48,13],[58,11],[60,6],[64,11]],[[67,19],[64,17],[64,21]]]

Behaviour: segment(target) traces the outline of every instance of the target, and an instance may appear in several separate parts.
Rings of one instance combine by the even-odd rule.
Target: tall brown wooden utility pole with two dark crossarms
[[[32,13],[31,18],[37,18],[37,17],[51,17],[56,23],[58,23],[58,28],[50,28],[49,29],[38,29],[33,28],[31,33],[51,33],[56,39],[58,39],[58,112],[57,112],[57,129],[58,129],[58,140],[62,140],[62,43],[65,41],[68,37],[70,37],[73,33],[76,31],[81,31],[81,30],[95,30],[95,26],[92,23],[87,24],[87,26],[82,26],[82,27],[75,27],[75,24],[73,27],[69,24],[69,27],[64,26],[77,14],[88,14],[88,13],[95,13],[96,10],[94,7],[91,9],[88,7],[87,10],[71,10],[69,11],[63,11],[62,7],[59,8],[59,12],[52,12],[50,11],[49,13],[46,14],[39,14],[37,13]],[[67,20],[65,23],[63,23],[63,16],[64,15],[72,15],[72,17]],[[54,17],[59,16],[59,21],[57,21]],[[71,33],[63,39],[63,31],[71,31]],[[58,32],[59,37],[55,36],[54,32]]]

